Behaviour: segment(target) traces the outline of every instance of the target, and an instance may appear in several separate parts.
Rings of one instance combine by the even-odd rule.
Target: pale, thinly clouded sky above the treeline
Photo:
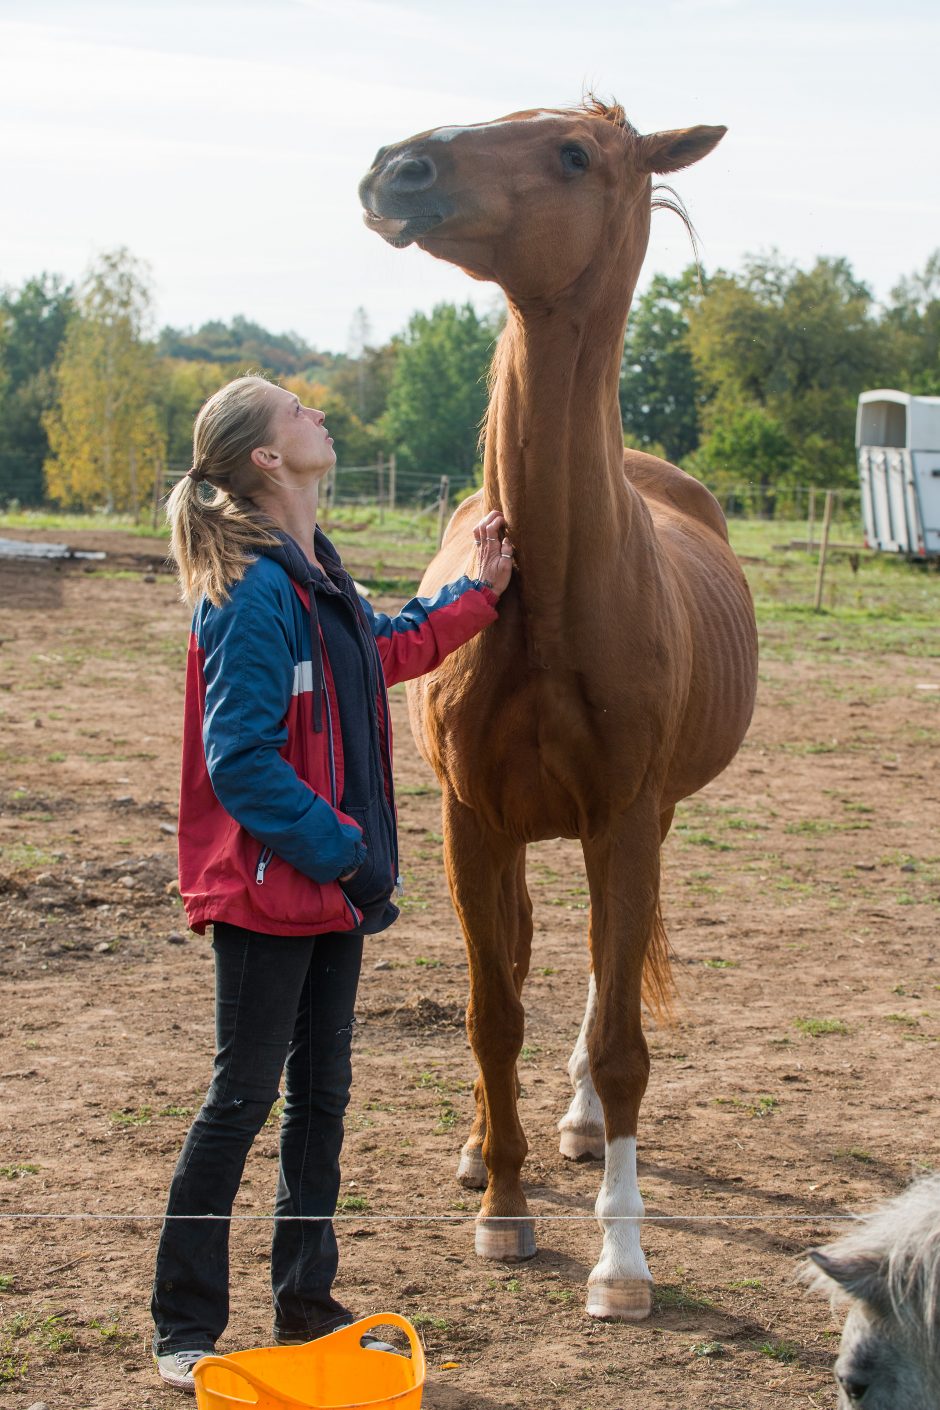
[[[940,7],[926,0],[0,0],[0,283],[147,262],[158,324],[241,313],[348,351],[475,283],[362,224],[378,147],[616,96],[727,124],[672,185],[706,269],[844,255],[886,298],[940,245]],[[640,288],[691,259],[653,220]]]

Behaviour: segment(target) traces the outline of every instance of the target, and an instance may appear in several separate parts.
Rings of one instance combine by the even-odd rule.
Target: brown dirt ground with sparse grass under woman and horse
[[[163,546],[123,547],[117,567],[0,565],[10,1410],[182,1404],[149,1363],[159,1224],[131,1215],[162,1210],[209,1080],[211,955],[173,894],[187,613],[159,571]],[[530,1263],[474,1255],[478,1196],[454,1180],[475,1070],[466,970],[437,787],[395,692],[407,894],[366,948],[338,1296],[420,1327],[428,1410],[834,1404],[839,1323],[795,1285],[796,1259],[839,1232],[831,1214],[940,1163],[940,666],[858,654],[837,623],[819,632],[824,653],[782,632],[762,632],[744,749],[667,843],[681,1011],[651,1032],[640,1177],[647,1213],[675,1222],[645,1228],[657,1304],[638,1327],[583,1313],[600,1166],[558,1155],[588,980],[583,870],[567,842],[530,852],[521,1112],[531,1208],[547,1220]],[[237,1213],[269,1213],[276,1136],[272,1120]],[[118,1218],[7,1218],[24,1211]],[[264,1222],[234,1225],[223,1351],[268,1338],[268,1241]]]

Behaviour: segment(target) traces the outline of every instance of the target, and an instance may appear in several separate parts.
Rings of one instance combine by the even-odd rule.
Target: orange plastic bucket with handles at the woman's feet
[[[399,1327],[412,1356],[359,1345],[372,1327]],[[256,1347],[193,1366],[199,1410],[419,1410],[424,1348],[404,1317],[376,1313],[303,1347]]]

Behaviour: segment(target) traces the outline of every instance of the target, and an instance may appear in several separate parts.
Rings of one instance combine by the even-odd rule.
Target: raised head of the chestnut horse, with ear
[[[389,244],[417,244],[519,300],[555,298],[599,257],[633,288],[653,175],[699,161],[724,131],[644,137],[602,103],[437,127],[378,152],[359,185],[364,219]]]

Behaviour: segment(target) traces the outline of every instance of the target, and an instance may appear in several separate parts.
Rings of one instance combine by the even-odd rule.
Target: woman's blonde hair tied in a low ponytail
[[[171,554],[186,602],[204,595],[221,606],[255,561],[254,550],[278,541],[275,525],[251,498],[262,484],[251,453],[269,436],[272,388],[264,376],[237,376],[196,417],[193,468],[166,501]],[[216,491],[211,499],[204,498],[202,481]]]

